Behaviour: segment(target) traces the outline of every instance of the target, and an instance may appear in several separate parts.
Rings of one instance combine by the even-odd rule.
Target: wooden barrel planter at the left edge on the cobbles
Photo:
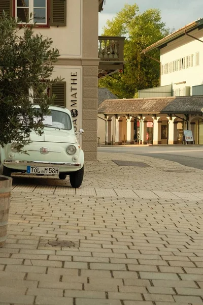
[[[12,178],[0,176],[0,248],[7,238],[11,187]]]

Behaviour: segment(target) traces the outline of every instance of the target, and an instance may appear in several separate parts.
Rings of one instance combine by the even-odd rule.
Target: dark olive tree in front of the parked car
[[[15,141],[21,151],[31,130],[43,133],[43,116],[53,101],[47,94],[52,63],[59,56],[52,40],[34,34],[34,27],[5,13],[0,17],[0,145]],[[33,109],[33,99],[40,109]]]

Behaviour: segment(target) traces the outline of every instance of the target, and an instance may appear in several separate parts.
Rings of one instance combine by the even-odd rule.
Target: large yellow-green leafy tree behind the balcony
[[[108,87],[122,99],[133,98],[138,90],[159,85],[159,63],[141,51],[167,34],[159,10],[149,9],[141,14],[137,4],[126,4],[116,17],[107,20],[103,32],[103,36],[126,36],[124,71],[100,79],[99,86]],[[150,56],[159,60],[159,51],[151,51]]]

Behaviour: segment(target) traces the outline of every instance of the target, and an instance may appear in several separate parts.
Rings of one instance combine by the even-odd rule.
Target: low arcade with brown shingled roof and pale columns
[[[98,107],[107,122],[107,144],[183,144],[191,130],[201,144],[203,96],[106,100]]]

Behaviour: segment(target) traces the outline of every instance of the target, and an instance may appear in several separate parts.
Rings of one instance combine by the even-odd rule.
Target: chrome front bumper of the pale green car
[[[58,165],[64,166],[64,167],[81,167],[81,163],[73,163],[73,162],[47,162],[47,161],[25,161],[25,160],[5,160],[3,164],[8,164],[8,165],[30,165],[30,166],[53,166],[57,167]]]

